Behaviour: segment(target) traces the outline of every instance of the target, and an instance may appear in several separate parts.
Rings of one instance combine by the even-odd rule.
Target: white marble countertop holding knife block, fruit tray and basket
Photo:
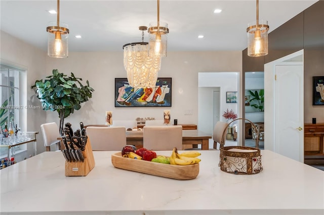
[[[201,151],[186,181],[114,168],[112,153],[94,151],[86,177],[65,177],[61,152],[1,170],[1,214],[324,214],[324,171],[268,150],[255,175],[222,172],[219,151]]]

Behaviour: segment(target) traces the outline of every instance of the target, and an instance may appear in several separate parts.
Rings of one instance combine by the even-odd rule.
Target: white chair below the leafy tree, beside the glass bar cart
[[[57,149],[60,149],[60,140],[57,138],[60,137],[60,129],[56,123],[45,123],[41,125],[44,146],[46,151],[51,151],[51,146],[57,144]],[[56,149],[56,150],[57,150]]]

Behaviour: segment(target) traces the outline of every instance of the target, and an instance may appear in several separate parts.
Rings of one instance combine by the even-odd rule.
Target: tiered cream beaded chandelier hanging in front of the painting
[[[146,26],[140,26],[142,42],[128,43],[124,49],[124,68],[127,80],[134,88],[154,88],[156,86],[157,72],[161,67],[160,57],[148,55],[148,42],[144,42]]]

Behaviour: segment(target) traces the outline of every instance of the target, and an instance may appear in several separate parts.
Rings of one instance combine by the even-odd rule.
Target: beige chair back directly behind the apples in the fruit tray
[[[149,150],[182,150],[182,126],[144,126],[143,147]]]

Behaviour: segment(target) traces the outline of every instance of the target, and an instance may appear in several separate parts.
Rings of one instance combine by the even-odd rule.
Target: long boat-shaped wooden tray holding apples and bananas
[[[178,166],[148,162],[121,156],[121,152],[111,155],[111,163],[114,167],[178,180],[194,179],[199,173],[199,164]]]

